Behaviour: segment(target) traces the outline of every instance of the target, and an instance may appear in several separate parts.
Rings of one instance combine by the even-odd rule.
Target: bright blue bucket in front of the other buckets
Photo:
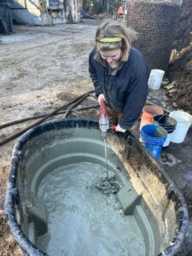
[[[167,131],[159,125],[144,125],[142,127],[141,138],[144,146],[156,160],[160,157],[166,137]]]

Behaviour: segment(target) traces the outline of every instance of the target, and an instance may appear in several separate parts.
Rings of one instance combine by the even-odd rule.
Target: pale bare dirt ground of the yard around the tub
[[[95,29],[94,22],[91,25],[52,27],[15,26],[15,34],[0,38],[0,125],[39,113],[49,113],[75,96],[93,89],[88,73],[88,55],[94,46]],[[162,99],[163,104],[166,99],[165,92],[156,93],[159,95],[152,95],[149,99],[158,97]],[[165,101],[169,102],[169,99]],[[96,100],[89,98],[82,105],[94,103]],[[96,111],[80,114],[95,116]],[[33,122],[28,121],[0,130],[0,141]],[[3,214],[6,183],[15,141],[16,139],[6,143],[0,150],[0,256],[22,255],[9,234]],[[165,153],[164,157],[169,154]],[[167,161],[170,162],[170,159],[161,159],[165,166]],[[171,162],[175,168],[177,160]]]

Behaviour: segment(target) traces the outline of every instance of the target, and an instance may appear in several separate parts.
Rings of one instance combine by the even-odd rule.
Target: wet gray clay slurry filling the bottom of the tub
[[[145,244],[134,216],[125,216],[115,195],[96,183],[105,167],[90,162],[60,166],[38,188],[48,211],[48,233],[38,248],[51,256],[143,256]]]

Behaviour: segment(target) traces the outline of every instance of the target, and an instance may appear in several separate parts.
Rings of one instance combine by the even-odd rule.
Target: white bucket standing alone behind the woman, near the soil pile
[[[165,71],[163,70],[152,69],[148,79],[148,87],[153,90],[159,90],[164,74],[165,74]]]

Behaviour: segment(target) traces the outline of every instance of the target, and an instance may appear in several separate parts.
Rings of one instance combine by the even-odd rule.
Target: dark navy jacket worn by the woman
[[[93,49],[90,52],[89,72],[96,96],[103,93],[108,105],[123,113],[119,125],[125,130],[130,129],[139,118],[148,96],[150,70],[143,54],[131,48],[128,61],[112,69]]]

